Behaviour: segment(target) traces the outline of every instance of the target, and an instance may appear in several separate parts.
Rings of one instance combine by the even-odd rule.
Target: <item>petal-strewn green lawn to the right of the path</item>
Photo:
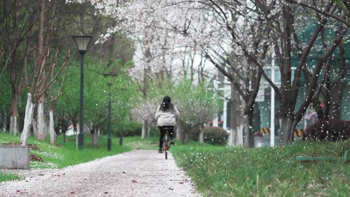
[[[170,150],[206,196],[350,196],[349,163],[295,159],[344,157],[350,141],[254,149],[189,144]]]

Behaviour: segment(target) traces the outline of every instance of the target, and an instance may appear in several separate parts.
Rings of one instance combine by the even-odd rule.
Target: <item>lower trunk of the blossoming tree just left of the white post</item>
[[[246,148],[254,148],[253,110],[243,116],[243,145]]]

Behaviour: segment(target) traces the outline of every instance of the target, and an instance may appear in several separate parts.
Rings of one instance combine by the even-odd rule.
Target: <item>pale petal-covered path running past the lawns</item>
[[[0,196],[201,196],[169,155],[133,150],[63,169],[22,170],[25,180],[0,183]]]

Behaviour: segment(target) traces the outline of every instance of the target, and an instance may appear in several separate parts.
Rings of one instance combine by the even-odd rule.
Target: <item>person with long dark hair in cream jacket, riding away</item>
[[[174,125],[176,124],[176,121],[179,119],[180,113],[176,106],[174,106],[171,103],[171,98],[169,96],[165,96],[163,98],[163,103],[157,108],[156,111],[156,120],[157,120],[157,126],[160,130],[160,138],[159,138],[159,149],[158,152],[162,153],[162,145],[163,145],[163,138],[165,135],[165,130],[169,130],[170,133],[170,143],[173,144],[173,129]]]

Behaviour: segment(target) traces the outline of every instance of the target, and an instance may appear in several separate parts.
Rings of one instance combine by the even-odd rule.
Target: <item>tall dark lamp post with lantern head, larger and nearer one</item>
[[[83,149],[84,147],[84,55],[86,48],[92,39],[91,35],[76,35],[72,36],[74,42],[77,45],[80,53],[80,121],[79,121],[79,135],[78,135],[78,147]]]

